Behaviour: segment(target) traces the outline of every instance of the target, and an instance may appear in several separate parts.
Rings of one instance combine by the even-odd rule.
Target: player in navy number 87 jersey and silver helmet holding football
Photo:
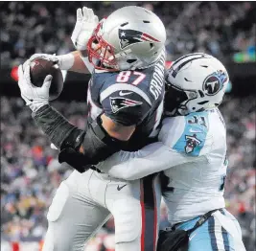
[[[19,66],[21,96],[35,123],[60,150],[59,161],[76,169],[60,184],[49,209],[44,251],[82,250],[111,214],[115,250],[155,250],[158,176],[127,182],[88,169],[120,149],[142,148],[157,135],[165,90],[165,40],[163,23],[144,8],[125,7],[101,22],[83,8],[72,34],[82,54],[35,55]],[[57,60],[61,70],[91,72],[85,130],[69,124],[49,104],[51,76],[42,87],[31,82],[29,63],[37,57]]]

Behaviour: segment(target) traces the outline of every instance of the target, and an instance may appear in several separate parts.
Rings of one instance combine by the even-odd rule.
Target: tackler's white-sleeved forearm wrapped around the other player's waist
[[[157,142],[138,151],[117,152],[98,168],[115,178],[135,180],[195,160]]]

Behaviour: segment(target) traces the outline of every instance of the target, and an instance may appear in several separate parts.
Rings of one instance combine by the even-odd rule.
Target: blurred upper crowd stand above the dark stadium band
[[[0,4],[1,64],[16,65],[35,53],[74,50],[70,35],[76,10],[92,8],[99,18],[126,5],[143,6],[163,20],[168,60],[206,52],[235,60],[255,59],[256,2],[6,2]]]

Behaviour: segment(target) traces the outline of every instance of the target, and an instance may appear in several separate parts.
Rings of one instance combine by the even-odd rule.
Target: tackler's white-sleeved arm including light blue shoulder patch
[[[133,180],[185,163],[197,162],[210,151],[212,138],[201,126],[185,125],[184,117],[166,119],[159,133],[161,142],[134,152],[117,152],[97,168],[113,177]],[[200,135],[195,136],[190,132],[191,129]]]

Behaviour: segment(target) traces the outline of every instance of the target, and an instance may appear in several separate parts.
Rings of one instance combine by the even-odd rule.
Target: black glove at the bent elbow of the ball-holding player
[[[63,148],[58,154],[58,162],[66,162],[72,168],[79,172],[84,172],[90,169],[91,165],[88,165],[88,159],[74,148]]]

